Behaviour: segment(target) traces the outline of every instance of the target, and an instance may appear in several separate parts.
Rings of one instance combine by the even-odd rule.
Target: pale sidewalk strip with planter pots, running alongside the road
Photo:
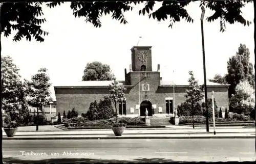
[[[112,129],[62,130],[62,131],[17,131],[8,138],[3,131],[3,140],[67,140],[67,139],[203,139],[203,138],[255,138],[255,128],[237,129],[125,129],[122,136],[115,136]]]

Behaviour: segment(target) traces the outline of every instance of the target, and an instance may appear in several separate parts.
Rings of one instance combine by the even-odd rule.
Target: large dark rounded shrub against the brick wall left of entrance
[[[115,112],[111,103],[110,98],[104,97],[103,100],[100,100],[99,103],[95,100],[91,102],[86,117],[89,120],[100,120],[100,119],[109,119],[114,117]]]

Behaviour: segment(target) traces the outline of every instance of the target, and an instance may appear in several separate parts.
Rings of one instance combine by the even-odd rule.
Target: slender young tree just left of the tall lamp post
[[[189,86],[188,86],[188,90],[186,90],[185,98],[186,98],[186,102],[191,104],[193,128],[195,128],[194,111],[196,108],[196,104],[204,98],[204,95],[201,87],[198,84],[198,81],[194,77],[193,71],[189,71],[188,73],[190,75],[190,78],[188,79]]]

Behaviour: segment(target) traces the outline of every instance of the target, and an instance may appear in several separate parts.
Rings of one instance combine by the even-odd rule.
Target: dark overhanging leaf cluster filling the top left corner
[[[15,31],[14,41],[20,41],[22,38],[31,41],[34,38],[36,41],[44,41],[43,36],[49,33],[41,29],[41,24],[46,22],[42,18],[44,13],[41,8],[42,3],[5,2],[1,5],[1,26],[5,37]]]

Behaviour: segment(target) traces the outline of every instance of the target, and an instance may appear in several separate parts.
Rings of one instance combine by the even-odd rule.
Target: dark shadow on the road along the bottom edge
[[[90,159],[90,158],[53,158],[42,160],[24,160],[15,157],[3,158],[3,163],[165,163],[174,162],[171,159],[164,158],[138,158],[133,160],[117,159]],[[178,162],[178,161],[175,161]],[[184,162],[183,162],[184,163]]]

